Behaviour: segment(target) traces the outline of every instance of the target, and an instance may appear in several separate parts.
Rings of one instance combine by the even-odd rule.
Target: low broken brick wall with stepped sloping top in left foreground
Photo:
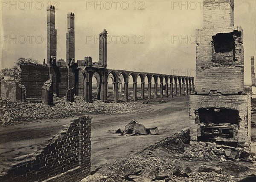
[[[19,156],[0,181],[78,182],[90,173],[91,119],[81,116],[64,125],[40,150]]]

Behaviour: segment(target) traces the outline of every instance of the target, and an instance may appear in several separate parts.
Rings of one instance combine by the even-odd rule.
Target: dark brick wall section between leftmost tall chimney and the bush
[[[44,81],[49,79],[47,66],[21,65],[21,84],[26,87],[27,98],[41,98]]]

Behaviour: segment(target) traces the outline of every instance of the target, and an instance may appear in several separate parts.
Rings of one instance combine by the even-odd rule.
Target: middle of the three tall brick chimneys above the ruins
[[[66,35],[67,54],[66,59],[69,63],[75,59],[75,14],[70,12],[67,14],[67,35]]]

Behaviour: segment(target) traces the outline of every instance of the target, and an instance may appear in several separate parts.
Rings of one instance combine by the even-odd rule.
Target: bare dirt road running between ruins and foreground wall
[[[189,126],[189,98],[187,96],[169,98],[168,102],[148,104],[148,107],[150,108],[148,113],[89,114],[92,117],[92,170],[98,165],[136,153]],[[145,127],[157,126],[160,134],[130,137],[112,134],[118,128],[124,129],[133,118]],[[62,125],[69,123],[71,119],[73,118],[37,120],[0,128],[0,167],[7,167],[14,157],[33,153],[37,146],[61,130]]]

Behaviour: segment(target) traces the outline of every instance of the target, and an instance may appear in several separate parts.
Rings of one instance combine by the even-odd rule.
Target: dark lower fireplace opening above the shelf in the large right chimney
[[[239,124],[239,111],[232,109],[200,108],[198,109],[199,121],[204,124]]]

